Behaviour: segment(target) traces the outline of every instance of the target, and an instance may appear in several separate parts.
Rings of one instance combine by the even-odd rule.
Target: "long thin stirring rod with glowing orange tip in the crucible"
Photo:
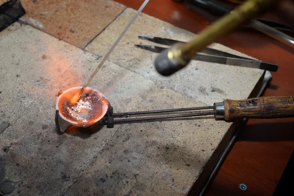
[[[149,0],[145,0],[143,2],[143,4],[141,5],[141,7],[138,9],[138,11],[136,12],[136,14],[133,16],[133,18],[129,22],[129,24],[124,28],[123,32],[117,38],[117,40],[115,41],[115,43],[112,45],[112,47],[109,49],[109,51],[105,54],[105,56],[103,57],[102,61],[97,66],[96,70],[92,73],[92,75],[90,76],[90,78],[88,79],[88,81],[84,84],[83,88],[81,88],[80,92],[77,93],[77,94],[75,94],[73,96],[73,98],[71,98],[71,100],[70,100],[70,103],[71,104],[76,103],[76,101],[78,100],[78,98],[82,95],[82,93],[84,92],[84,90],[86,89],[86,87],[90,84],[90,82],[92,81],[92,79],[95,77],[96,73],[100,70],[100,68],[102,67],[102,65],[104,64],[104,62],[107,60],[108,56],[111,54],[111,52],[113,51],[113,49],[118,45],[118,43],[120,42],[120,40],[123,38],[123,35],[126,33],[126,31],[129,29],[129,27],[136,20],[136,18],[141,13],[141,11],[143,10],[143,8],[147,5],[148,1]]]

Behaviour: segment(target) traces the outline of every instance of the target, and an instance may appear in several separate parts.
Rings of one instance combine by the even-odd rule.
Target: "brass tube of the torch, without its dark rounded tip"
[[[236,29],[261,11],[271,7],[277,0],[247,0],[243,5],[222,17],[214,25],[205,28],[190,42],[175,49],[173,57],[178,61],[190,61],[196,52],[201,51],[224,34]]]

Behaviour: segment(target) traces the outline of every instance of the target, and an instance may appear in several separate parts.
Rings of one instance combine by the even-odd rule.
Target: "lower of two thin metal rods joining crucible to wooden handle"
[[[144,117],[144,118],[117,119],[117,120],[114,120],[114,123],[130,123],[130,122],[140,122],[140,121],[153,121],[153,120],[162,120],[162,119],[207,116],[207,115],[215,115],[215,114],[216,114],[215,111],[211,111],[211,112],[199,112],[199,113],[194,113],[194,114],[177,114],[177,115],[155,116],[155,117]]]

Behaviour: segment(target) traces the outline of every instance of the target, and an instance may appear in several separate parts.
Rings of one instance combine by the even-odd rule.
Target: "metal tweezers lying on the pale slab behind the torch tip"
[[[157,44],[162,44],[166,46],[172,46],[175,43],[184,43],[177,40],[161,38],[161,37],[153,37],[153,36],[138,36],[139,39],[151,41]],[[141,49],[146,49],[152,52],[161,53],[163,50],[167,49],[159,46],[151,46],[151,45],[138,45],[135,44],[136,47]],[[193,60],[205,61],[210,63],[219,63],[224,65],[234,65],[240,67],[248,67],[248,68],[257,68],[261,70],[267,70],[270,72],[276,72],[278,70],[278,65],[267,63],[263,61],[258,61],[250,58],[246,58],[243,56],[231,54],[228,52],[224,52],[217,49],[206,48],[201,52],[196,53]]]

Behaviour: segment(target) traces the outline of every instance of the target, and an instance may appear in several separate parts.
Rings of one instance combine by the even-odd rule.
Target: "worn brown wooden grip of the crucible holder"
[[[260,97],[245,100],[225,99],[224,119],[274,119],[294,117],[294,96]]]

